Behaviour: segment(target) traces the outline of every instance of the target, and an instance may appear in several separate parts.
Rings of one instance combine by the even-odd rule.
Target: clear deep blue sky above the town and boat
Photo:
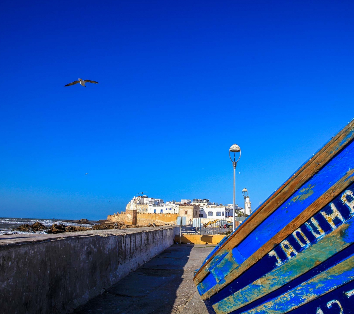
[[[353,1],[2,1],[0,216],[252,208],[353,117]],[[78,78],[98,81],[63,87]],[[88,172],[89,175],[85,176]]]

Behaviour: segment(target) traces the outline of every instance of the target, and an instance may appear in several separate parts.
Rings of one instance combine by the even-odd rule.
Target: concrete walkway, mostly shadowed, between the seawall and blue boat
[[[210,245],[174,244],[117,282],[74,314],[207,314],[193,282],[193,270]]]

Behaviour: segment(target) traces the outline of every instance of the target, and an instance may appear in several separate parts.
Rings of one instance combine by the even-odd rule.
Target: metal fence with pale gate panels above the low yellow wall
[[[215,219],[210,221],[206,218],[193,218],[192,224],[186,224],[186,217],[177,217],[176,234],[200,234],[200,235],[226,235],[232,232],[232,219]],[[243,220],[243,217],[236,217]],[[238,220],[238,219],[236,219]],[[241,220],[241,221],[242,221]]]

